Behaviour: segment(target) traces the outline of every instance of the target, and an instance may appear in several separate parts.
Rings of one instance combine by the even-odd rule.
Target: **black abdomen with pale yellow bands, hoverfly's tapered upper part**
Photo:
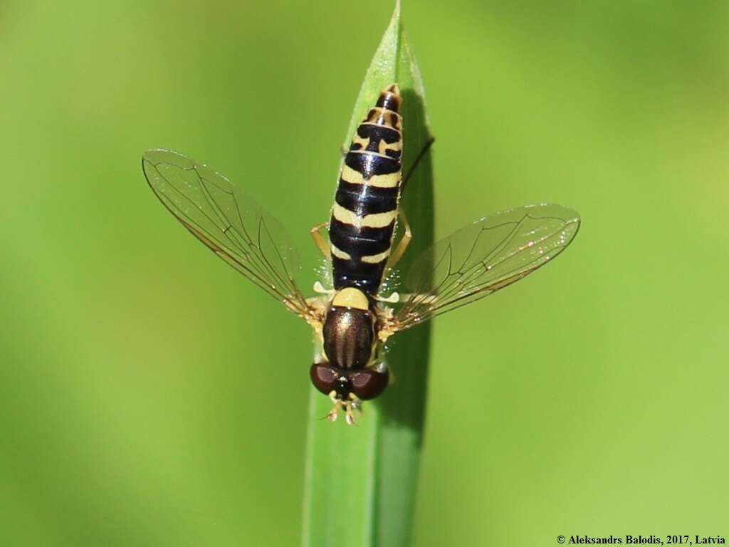
[[[336,290],[376,295],[382,282],[400,192],[401,103],[397,84],[383,90],[344,158],[329,226]]]

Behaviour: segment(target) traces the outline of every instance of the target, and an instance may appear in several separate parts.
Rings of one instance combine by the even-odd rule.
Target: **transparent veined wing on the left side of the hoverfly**
[[[157,198],[187,230],[287,309],[313,317],[294,281],[300,264],[286,231],[252,198],[176,152],[149,150],[142,168]]]

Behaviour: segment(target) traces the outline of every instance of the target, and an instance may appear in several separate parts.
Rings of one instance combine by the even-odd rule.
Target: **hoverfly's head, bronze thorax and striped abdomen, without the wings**
[[[324,357],[311,367],[316,389],[352,420],[352,406],[387,387],[389,373],[375,365],[376,298],[390,257],[402,182],[402,98],[397,85],[383,90],[356,128],[340,170],[329,222],[334,297],[322,330]]]

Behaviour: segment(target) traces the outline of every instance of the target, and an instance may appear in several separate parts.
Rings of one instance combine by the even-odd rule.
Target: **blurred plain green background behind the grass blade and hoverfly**
[[[391,7],[0,4],[0,543],[297,545],[308,326],[165,212],[140,155],[240,182],[308,271]],[[416,545],[729,535],[729,3],[403,19],[437,236],[583,217],[554,265],[435,321]]]

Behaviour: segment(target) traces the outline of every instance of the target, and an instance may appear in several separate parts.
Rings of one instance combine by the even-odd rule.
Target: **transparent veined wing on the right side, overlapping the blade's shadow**
[[[580,216],[531,205],[485,217],[426,249],[410,268],[411,291],[385,325],[388,334],[491,295],[545,265],[569,245]]]

